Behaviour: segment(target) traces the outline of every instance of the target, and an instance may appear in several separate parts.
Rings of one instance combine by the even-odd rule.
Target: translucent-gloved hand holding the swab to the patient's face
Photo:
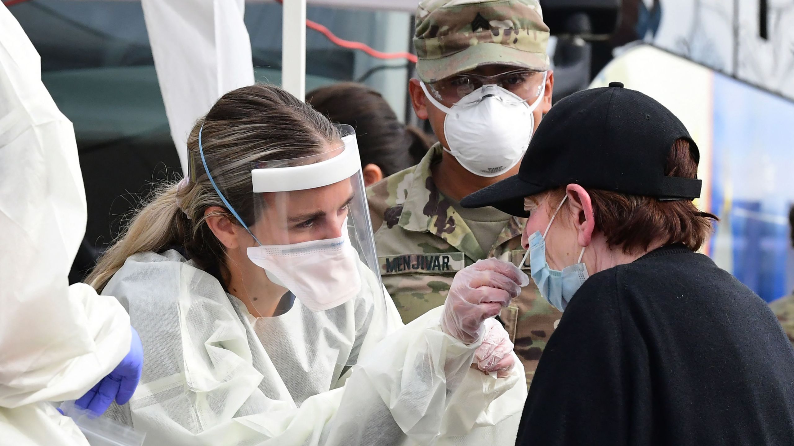
[[[483,321],[510,305],[521,294],[521,287],[529,283],[529,276],[513,263],[477,260],[457,271],[444,302],[441,329],[465,344],[472,344],[483,334]]]

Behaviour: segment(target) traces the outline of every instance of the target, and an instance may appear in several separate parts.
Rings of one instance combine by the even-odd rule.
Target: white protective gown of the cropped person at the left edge
[[[0,5],[0,444],[86,445],[48,402],[79,398],[129,352],[114,298],[67,275],[86,228],[71,122]]]

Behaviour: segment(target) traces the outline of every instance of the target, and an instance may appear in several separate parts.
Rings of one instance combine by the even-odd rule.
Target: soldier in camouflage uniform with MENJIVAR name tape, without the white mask
[[[534,111],[538,125],[551,106],[553,87],[545,52],[549,29],[538,0],[426,0],[416,17],[416,69],[428,86],[461,73],[546,71],[542,102]],[[368,190],[380,273],[406,322],[443,305],[455,273],[476,260],[496,257],[530,273],[528,264],[519,264],[526,252],[521,246],[524,219],[490,207],[483,214],[458,206],[465,195],[514,175],[518,164],[488,178],[462,167],[445,150],[445,113],[426,101],[418,79],[411,79],[409,87],[414,110],[430,120],[440,142],[417,166]],[[527,385],[560,317],[534,283],[499,315],[526,369]]]

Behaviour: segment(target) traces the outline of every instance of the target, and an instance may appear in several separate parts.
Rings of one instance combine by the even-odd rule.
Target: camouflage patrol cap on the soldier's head
[[[416,71],[426,83],[480,65],[549,69],[538,0],[422,0],[416,11]]]

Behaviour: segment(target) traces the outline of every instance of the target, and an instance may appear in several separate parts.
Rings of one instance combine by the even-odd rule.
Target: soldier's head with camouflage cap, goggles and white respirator
[[[551,107],[554,77],[546,54],[548,39],[549,28],[543,23],[537,0],[426,0],[420,3],[414,35],[419,79],[411,79],[409,85],[414,111],[419,118],[430,121],[438,140],[454,154],[457,152],[455,141],[468,136],[457,135],[458,129],[445,125],[449,110],[461,106],[462,98],[480,91],[483,85],[502,87],[500,101],[526,102],[523,107],[511,106],[507,116],[526,111],[531,117],[518,117],[522,121],[512,123],[494,116],[497,121],[484,125],[497,128],[501,124],[504,129],[498,132],[502,135],[522,136],[515,138],[516,144],[522,146],[520,151],[514,151],[518,151],[520,157],[526,149],[525,139],[537,129],[543,114]],[[530,106],[534,106],[531,111]],[[493,115],[485,114],[483,119]],[[527,128],[530,124],[532,127]],[[448,135],[449,132],[455,134]],[[499,144],[503,138],[487,139]],[[492,144],[482,150],[493,150]],[[461,164],[466,167],[464,161]],[[499,167],[503,166],[492,168]],[[476,167],[469,170],[476,170]]]

